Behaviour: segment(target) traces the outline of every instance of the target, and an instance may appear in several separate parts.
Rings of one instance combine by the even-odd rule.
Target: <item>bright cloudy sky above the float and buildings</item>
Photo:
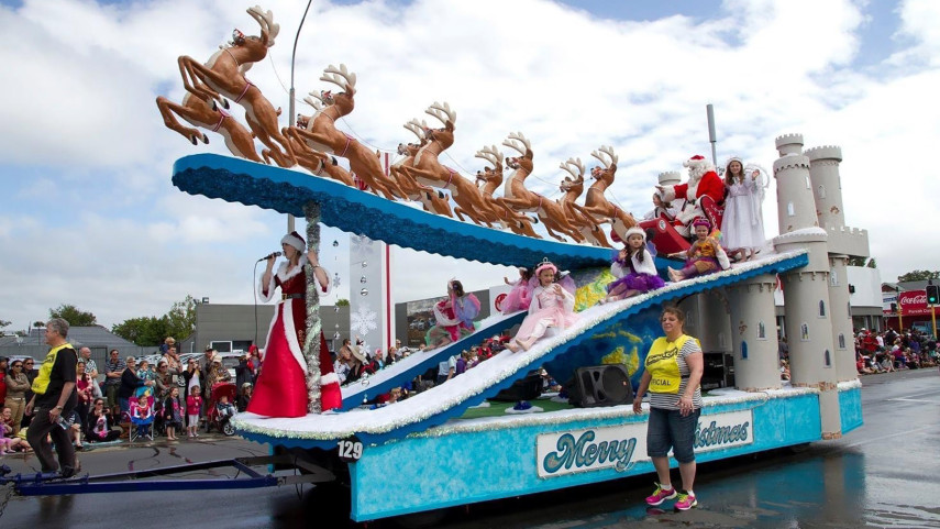
[[[550,198],[563,176],[559,162],[577,156],[593,166],[590,152],[610,144],[620,168],[608,198],[638,216],[659,172],[708,153],[710,102],[719,159],[738,154],[770,167],[774,137],[792,132],[807,147],[842,146],[847,223],[870,230],[883,279],[893,280],[936,268],[940,257],[920,244],[932,231],[908,220],[932,216],[938,196],[920,162],[940,140],[938,3],[314,1],[298,45],[297,88],[299,96],[327,89],[322,69],[347,64],[360,84],[343,126],[387,150],[410,140],[405,121],[450,101],[460,121],[449,156],[465,174],[480,168],[477,148],[523,131],[539,161],[529,184]],[[252,301],[252,263],[277,249],[286,221],[174,188],[176,158],[225,151],[211,133],[210,145],[193,147],[163,126],[154,106],[158,95],[183,98],[177,56],[208,58],[233,27],[257,32],[248,5],[0,0],[9,74],[0,96],[13,102],[0,110],[8,330],[63,302],[110,327],[164,313],[187,294]],[[305,3],[263,7],[281,34],[250,77],[286,107],[278,78],[289,78]],[[902,185],[884,184],[898,173]],[[772,202],[767,236],[777,231]],[[346,235],[327,230],[324,240],[340,242],[324,250],[324,263],[349,275]],[[438,295],[455,275],[485,288],[509,273],[408,251],[394,260],[398,301]],[[422,274],[409,273],[416,267]]]

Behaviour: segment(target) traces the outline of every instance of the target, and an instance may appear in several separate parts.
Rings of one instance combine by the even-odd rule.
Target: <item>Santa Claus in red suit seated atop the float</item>
[[[688,167],[688,181],[686,184],[656,186],[665,202],[676,198],[685,199],[683,209],[673,221],[676,231],[688,238],[693,232],[692,223],[697,218],[706,218],[711,222],[711,225],[720,228],[725,183],[721,181],[715,166],[700,154],[685,161],[683,166]]]

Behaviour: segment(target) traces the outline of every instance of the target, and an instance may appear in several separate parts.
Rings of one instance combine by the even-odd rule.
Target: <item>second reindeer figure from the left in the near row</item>
[[[338,93],[321,91],[316,97],[325,107],[313,114],[307,128],[292,126],[287,130],[287,134],[299,143],[306,144],[311,151],[334,154],[349,159],[351,172],[385,198],[389,200],[395,200],[396,197],[405,198],[405,191],[383,172],[378,156],[353,136],[336,129],[336,120],[355,108],[353,98],[356,93],[356,75],[351,73],[344,64],[339,68],[330,65],[323,70],[320,80],[336,85],[343,91]]]

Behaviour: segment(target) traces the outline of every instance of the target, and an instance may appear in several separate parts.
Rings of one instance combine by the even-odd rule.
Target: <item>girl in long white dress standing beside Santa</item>
[[[759,180],[759,177],[760,180]],[[729,253],[743,261],[752,258],[766,242],[761,205],[766,187],[756,166],[744,167],[739,157],[725,165],[725,217],[721,220],[723,243]]]

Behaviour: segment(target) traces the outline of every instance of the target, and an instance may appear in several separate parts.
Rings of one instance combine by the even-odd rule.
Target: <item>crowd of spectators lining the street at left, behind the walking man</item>
[[[223,367],[221,357],[212,348],[206,348],[199,357],[180,359],[175,341],[168,338],[161,346],[159,360],[121,357],[111,350],[108,361],[99,372],[88,348],[79,350],[76,367],[78,406],[71,417],[64,417],[69,438],[76,450],[86,443],[114,442],[128,439],[131,428],[147,439],[165,436],[178,439],[184,429],[191,438],[198,429],[207,427],[210,409],[226,420],[234,409],[244,411],[252,387],[262,368],[262,354],[252,346],[239,359],[232,376]],[[24,416],[25,403],[32,398],[30,387],[37,371],[33,359],[0,359],[0,454],[31,450],[26,442],[30,416]],[[99,374],[101,376],[99,376]],[[236,382],[233,403],[228,398],[213,400],[212,387]],[[192,406],[196,401],[197,405]],[[148,420],[153,419],[153,420]]]

